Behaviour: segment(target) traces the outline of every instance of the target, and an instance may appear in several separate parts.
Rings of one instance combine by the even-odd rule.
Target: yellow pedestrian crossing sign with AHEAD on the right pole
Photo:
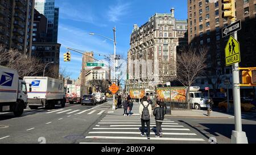
[[[226,66],[241,62],[240,59],[240,44],[232,35],[225,48]]]

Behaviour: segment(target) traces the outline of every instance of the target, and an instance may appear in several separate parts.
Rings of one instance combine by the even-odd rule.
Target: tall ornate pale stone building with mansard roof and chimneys
[[[171,14],[156,13],[141,27],[134,24],[127,54],[129,88],[147,89],[175,77],[176,48],[186,32],[187,20],[176,20],[174,8]]]

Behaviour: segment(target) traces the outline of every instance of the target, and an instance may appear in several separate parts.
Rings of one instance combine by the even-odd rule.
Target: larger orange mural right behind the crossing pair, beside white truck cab
[[[170,88],[158,88],[156,94],[164,100],[170,100]],[[172,87],[171,88],[171,99],[177,101],[186,100],[186,89],[185,87]]]

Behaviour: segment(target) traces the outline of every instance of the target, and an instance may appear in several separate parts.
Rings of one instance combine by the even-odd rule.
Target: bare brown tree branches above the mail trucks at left
[[[4,47],[0,47],[0,55],[0,65],[16,69],[20,78],[38,76],[44,69],[44,65],[40,63],[40,60],[35,57],[27,57],[14,49],[7,50]]]

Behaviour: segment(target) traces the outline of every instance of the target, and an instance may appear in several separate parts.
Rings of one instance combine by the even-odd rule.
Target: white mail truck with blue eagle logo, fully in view
[[[24,77],[24,81],[30,88],[28,106],[32,110],[38,107],[52,109],[57,104],[65,107],[64,81],[49,77]]]

